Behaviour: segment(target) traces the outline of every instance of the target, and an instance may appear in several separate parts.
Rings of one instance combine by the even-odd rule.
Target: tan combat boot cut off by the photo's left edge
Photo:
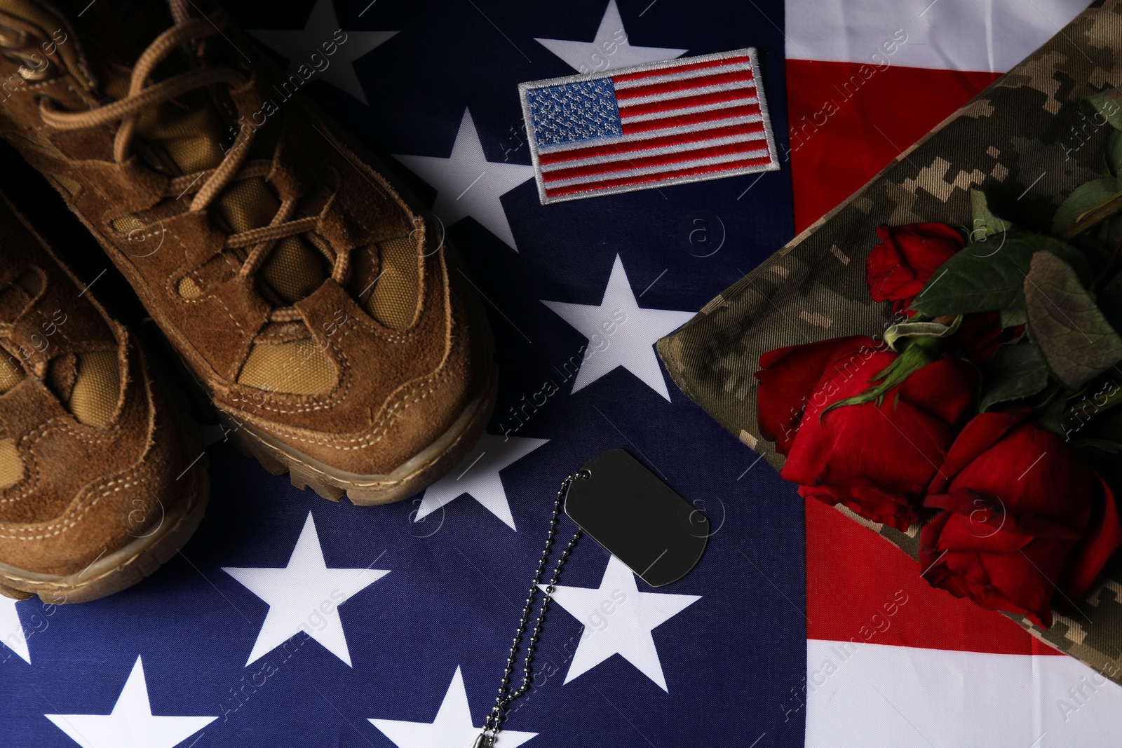
[[[0,195],[0,594],[104,597],[194,533],[205,460],[144,357]]]

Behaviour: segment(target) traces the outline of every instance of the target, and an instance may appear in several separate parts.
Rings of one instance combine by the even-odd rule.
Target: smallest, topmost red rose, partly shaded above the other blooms
[[[868,295],[874,302],[892,302],[896,314],[911,305],[939,266],[966,246],[946,223],[882,224],[876,236],[884,243],[873,247],[865,264]]]

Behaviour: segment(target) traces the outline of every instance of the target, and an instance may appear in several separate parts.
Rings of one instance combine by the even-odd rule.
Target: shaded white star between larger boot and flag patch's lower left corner
[[[456,144],[448,158],[397,155],[394,158],[436,188],[436,204],[432,206],[432,212],[444,225],[470,215],[511,249],[518,251],[500,197],[523,182],[533,179],[534,167],[487,160],[469,110],[463,110]]]

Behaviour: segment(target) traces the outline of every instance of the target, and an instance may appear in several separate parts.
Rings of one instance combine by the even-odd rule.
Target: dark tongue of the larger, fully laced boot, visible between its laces
[[[27,0],[0,0],[0,8],[9,2],[25,3]],[[77,0],[76,4],[86,2]],[[75,18],[76,12],[68,15]],[[172,11],[162,2],[112,0],[93,3],[75,24],[83,40],[90,45],[102,93],[116,100],[128,94],[135,61],[174,20]],[[192,63],[186,53],[172,54],[160,65],[158,75],[188,70]],[[145,155],[175,175],[217,167],[226,156],[223,139],[229,133],[229,123],[223,122],[219,109],[204,91],[146,110],[136,129],[136,138],[145,142]],[[210,213],[224,230],[238,233],[268,225],[279,209],[280,201],[265,179],[252,177],[231,182],[211,203]],[[300,237],[287,237],[276,242],[258,276],[266,296],[276,304],[288,305],[319,288],[329,270],[322,253]]]

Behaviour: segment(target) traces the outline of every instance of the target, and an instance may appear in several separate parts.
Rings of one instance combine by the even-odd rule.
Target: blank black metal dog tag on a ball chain
[[[564,511],[588,536],[651,587],[686,576],[701,558],[709,520],[623,450],[586,462]]]

